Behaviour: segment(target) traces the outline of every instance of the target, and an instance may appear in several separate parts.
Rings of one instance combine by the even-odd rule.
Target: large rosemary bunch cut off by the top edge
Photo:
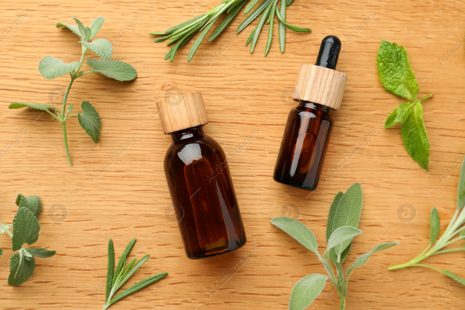
[[[194,57],[195,52],[199,48],[206,35],[216,23],[219,17],[226,13],[226,18],[215,28],[213,33],[208,38],[208,42],[215,40],[218,35],[225,30],[226,26],[236,17],[241,8],[249,0],[224,0],[221,4],[212,10],[194,17],[192,20],[187,20],[180,23],[179,25],[173,26],[165,30],[165,32],[154,32],[149,33],[152,35],[160,35],[161,38],[153,40],[154,42],[163,42],[169,40],[167,45],[173,45],[173,47],[166,53],[165,60],[170,59],[171,62],[174,60],[174,56],[179,48],[187,43],[196,33],[202,32],[199,37],[195,40],[194,44],[189,51],[187,61],[190,62]],[[259,0],[250,0],[246,6],[244,14],[249,13],[253,7],[257,5]],[[307,32],[311,31],[310,28],[303,28],[292,26],[286,23],[286,7],[292,4],[293,0],[263,0],[260,5],[253,10],[253,12],[239,25],[237,33],[243,31],[250,23],[257,19],[260,14],[260,19],[255,29],[250,34],[246,41],[246,46],[251,43],[250,52],[253,53],[257,44],[260,32],[265,25],[269,24],[268,28],[268,40],[265,48],[265,56],[270,51],[273,35],[273,24],[274,17],[278,19],[278,33],[279,33],[279,48],[281,53],[284,53],[284,47],[286,43],[286,27],[296,32]],[[279,3],[279,5],[278,5]]]

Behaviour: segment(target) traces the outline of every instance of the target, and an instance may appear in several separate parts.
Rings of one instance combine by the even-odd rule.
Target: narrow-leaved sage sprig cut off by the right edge
[[[465,158],[464,158],[465,160]],[[462,161],[463,163],[463,161]],[[437,254],[450,253],[455,251],[465,251],[465,245],[458,248],[445,249],[446,246],[462,241],[465,239],[465,165],[462,164],[460,169],[460,178],[458,180],[458,195],[457,195],[457,210],[452,217],[451,222],[447,225],[446,230],[439,237],[440,230],[440,218],[438,210],[433,207],[430,213],[430,243],[426,249],[420,253],[419,256],[413,258],[410,262],[389,267],[389,270],[401,269],[406,267],[425,267],[432,270],[439,271],[445,274],[447,277],[451,277],[458,283],[465,285],[465,279],[459,277],[455,273],[449,270],[441,270],[431,265],[419,264],[422,260]]]

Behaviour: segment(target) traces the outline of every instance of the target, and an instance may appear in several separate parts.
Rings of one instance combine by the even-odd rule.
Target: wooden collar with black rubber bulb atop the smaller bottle
[[[336,71],[341,41],[328,35],[321,41],[317,62],[301,65],[292,99],[305,100],[339,110],[347,75]]]

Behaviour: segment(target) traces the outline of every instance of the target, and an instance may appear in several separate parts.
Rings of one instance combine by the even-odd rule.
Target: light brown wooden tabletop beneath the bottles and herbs
[[[234,35],[243,20],[241,14],[217,40],[204,43],[191,63],[186,62],[188,48],[181,49],[173,63],[164,61],[168,48],[153,43],[147,33],[163,31],[204,13],[218,0],[72,2],[1,3],[1,31],[21,13],[27,13],[27,18],[0,43],[0,148],[21,130],[27,134],[0,159],[0,221],[11,222],[16,194],[39,195],[44,207],[40,216],[43,230],[35,245],[57,251],[52,258],[37,259],[35,274],[27,283],[9,287],[9,238],[0,237],[4,249],[0,258],[1,309],[100,309],[110,237],[118,255],[133,237],[138,239],[133,255],[151,254],[132,283],[169,272],[157,284],[113,305],[114,310],[287,309],[293,285],[301,277],[323,273],[324,269],[313,253],[291,237],[279,230],[273,232],[269,220],[289,205],[297,207],[300,220],[314,231],[324,248],[332,199],[355,182],[360,182],[364,191],[359,226],[364,233],[355,238],[345,268],[374,244],[401,244],[375,254],[354,272],[347,309],[463,309],[465,290],[454,287],[449,278],[420,268],[387,270],[424,249],[433,206],[438,208],[443,230],[455,209],[459,168],[451,169],[450,176],[444,169],[460,163],[465,152],[464,48],[450,53],[442,65],[439,59],[449,48],[464,42],[463,2],[295,0],[288,8],[288,21],[310,26],[312,33],[288,31],[284,54],[279,52],[276,33],[271,52],[263,56],[265,32],[250,54],[244,46],[250,29]],[[372,12],[376,17],[367,27],[362,22]],[[126,61],[138,71],[138,78],[130,83],[97,74],[74,83],[68,103],[78,107],[82,100],[89,100],[100,113],[102,132],[100,142],[94,145],[75,119],[68,122],[73,166],[67,163],[56,121],[40,112],[7,108],[12,101],[60,104],[54,99],[60,99],[60,89],[66,87],[68,78],[47,80],[40,76],[38,63],[46,55],[67,63],[79,60],[78,38],[54,26],[58,21],[73,23],[71,16],[86,25],[95,17],[105,17],[98,37],[113,42],[113,59]],[[139,21],[131,23],[138,16]],[[365,29],[358,31],[357,27]],[[124,35],[115,39],[120,32]],[[275,183],[272,171],[291,109],[286,95],[299,65],[314,62],[320,41],[328,34],[338,35],[346,43],[338,70],[349,80],[341,109],[332,112],[335,127],[324,173],[341,158],[348,158],[346,152],[366,134],[376,133],[332,178],[321,180],[309,196],[307,191]],[[434,97],[424,102],[431,143],[429,172],[407,155],[398,128],[383,129],[383,120],[400,101],[386,92],[378,79],[375,63],[382,39],[407,49],[421,87],[419,95],[434,92]],[[170,198],[163,157],[171,139],[163,135],[154,102],[169,96],[173,89],[203,92],[210,119],[206,132],[232,158],[230,169],[248,243],[224,256],[187,259],[178,226],[166,217]],[[138,130],[143,133],[130,140]],[[252,144],[240,147],[254,131],[259,134]],[[93,180],[94,171],[121,147],[127,149]],[[238,147],[241,151],[234,157],[231,153]],[[415,217],[399,218],[398,209],[403,204],[416,210]],[[62,206],[67,216],[53,217]],[[231,269],[254,248],[259,251],[252,260],[233,274]],[[465,275],[461,252],[432,257],[427,263]],[[226,274],[231,279],[209,298],[212,285]],[[324,294],[309,309],[339,309],[339,297],[326,285]]]

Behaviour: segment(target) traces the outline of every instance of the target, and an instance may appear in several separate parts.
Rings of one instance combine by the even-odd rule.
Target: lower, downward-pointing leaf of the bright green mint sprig
[[[416,100],[412,106],[412,112],[400,127],[405,149],[420,167],[428,170],[430,156],[430,143],[423,123],[423,106]]]

